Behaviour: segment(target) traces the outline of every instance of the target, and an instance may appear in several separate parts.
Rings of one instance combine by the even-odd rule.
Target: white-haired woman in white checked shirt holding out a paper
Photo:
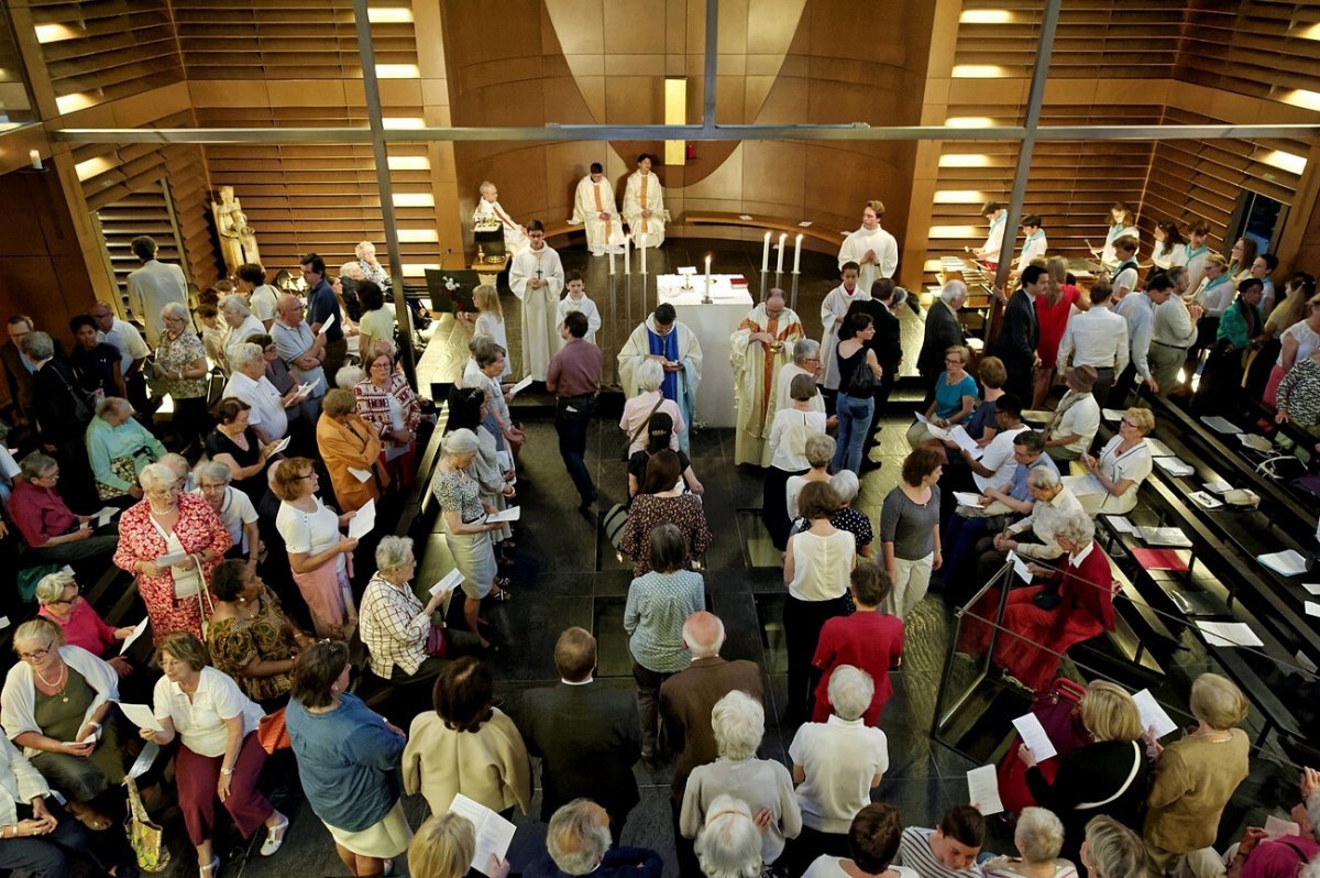
[[[453,658],[455,646],[471,646],[475,636],[437,623],[434,614],[454,589],[417,599],[412,578],[417,573],[413,541],[407,536],[381,537],[376,547],[376,574],[362,595],[358,623],[371,671],[384,680],[433,677]]]

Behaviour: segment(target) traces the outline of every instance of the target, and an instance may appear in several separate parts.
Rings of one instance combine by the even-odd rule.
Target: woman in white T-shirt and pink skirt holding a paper
[[[289,552],[293,581],[312,611],[318,638],[343,640],[358,625],[348,588],[348,558],[358,540],[339,533],[356,512],[339,515],[321,503],[315,467],[305,457],[280,461],[271,490],[279,496],[275,527]]]

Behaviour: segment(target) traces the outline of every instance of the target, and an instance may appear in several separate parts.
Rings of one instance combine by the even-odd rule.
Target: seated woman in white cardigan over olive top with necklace
[[[92,800],[124,782],[119,731],[110,717],[119,676],[81,647],[67,646],[50,619],[24,622],[13,632],[18,663],[5,676],[0,724],[33,767],[69,799],[88,829],[111,821]]]

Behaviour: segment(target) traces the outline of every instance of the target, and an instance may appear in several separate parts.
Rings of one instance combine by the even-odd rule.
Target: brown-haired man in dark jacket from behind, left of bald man
[[[642,757],[636,700],[591,679],[595,638],[568,628],[554,644],[560,685],[528,692],[519,712],[527,750],[541,758],[541,815],[549,819],[574,799],[591,799],[610,815],[615,844],[638,804],[632,766]]]

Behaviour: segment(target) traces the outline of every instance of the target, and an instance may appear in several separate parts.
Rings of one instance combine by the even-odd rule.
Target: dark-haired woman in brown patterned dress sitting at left
[[[211,588],[215,613],[206,630],[211,664],[253,701],[268,709],[282,706],[293,688],[293,659],[314,638],[294,627],[280,598],[243,561],[220,561]]]

